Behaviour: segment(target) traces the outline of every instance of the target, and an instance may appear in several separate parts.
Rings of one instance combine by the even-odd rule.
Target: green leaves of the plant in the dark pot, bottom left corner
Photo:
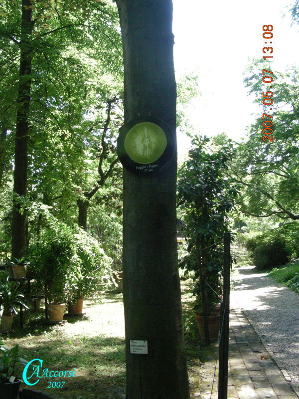
[[[18,344],[9,349],[0,341],[0,384],[8,383],[11,377],[21,379],[21,367],[27,363],[19,357]]]

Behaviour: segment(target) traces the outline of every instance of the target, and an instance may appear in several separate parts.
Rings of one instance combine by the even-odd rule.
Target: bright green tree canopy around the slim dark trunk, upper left
[[[104,175],[117,158],[114,142],[122,121],[123,86],[118,11],[111,1],[30,3],[34,26],[26,37],[33,51],[27,200],[43,202],[71,224],[78,217],[78,198],[102,179],[98,170],[103,147]],[[6,131],[0,142],[0,175],[1,154],[7,155],[0,183],[6,189],[14,153],[22,7],[20,2],[3,0],[0,10],[1,137]],[[5,203],[3,217],[10,210],[11,203]],[[30,239],[35,240],[38,220],[39,214],[34,218],[29,214]],[[9,222],[7,228],[6,223],[0,227],[0,249],[6,255],[11,228]]]

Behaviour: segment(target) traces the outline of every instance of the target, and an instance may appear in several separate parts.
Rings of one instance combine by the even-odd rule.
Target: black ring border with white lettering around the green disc
[[[139,164],[138,162],[133,161],[133,159],[129,157],[125,150],[125,138],[127,134],[133,128],[133,126],[143,122],[150,122],[158,125],[163,130],[167,140],[166,148],[160,158],[158,158],[151,164],[146,165]],[[136,119],[132,119],[131,121],[123,125],[119,131],[120,134],[117,139],[116,146],[117,155],[123,167],[126,168],[129,172],[138,176],[153,176],[162,172],[170,164],[175,152],[176,143],[174,134],[166,122],[162,121],[159,118],[155,118],[154,116],[144,115],[139,116]]]

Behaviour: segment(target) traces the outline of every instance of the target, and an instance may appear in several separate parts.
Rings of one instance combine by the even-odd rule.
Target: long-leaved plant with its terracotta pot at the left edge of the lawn
[[[0,306],[2,310],[0,332],[10,331],[13,315],[17,314],[16,305],[22,305],[25,309],[25,297],[18,281],[10,281],[9,274],[3,273],[0,280]]]

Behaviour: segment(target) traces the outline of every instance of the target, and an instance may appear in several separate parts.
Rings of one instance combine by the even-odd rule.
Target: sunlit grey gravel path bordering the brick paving
[[[299,295],[253,266],[232,276],[231,307],[246,311],[292,382],[299,384]]]

